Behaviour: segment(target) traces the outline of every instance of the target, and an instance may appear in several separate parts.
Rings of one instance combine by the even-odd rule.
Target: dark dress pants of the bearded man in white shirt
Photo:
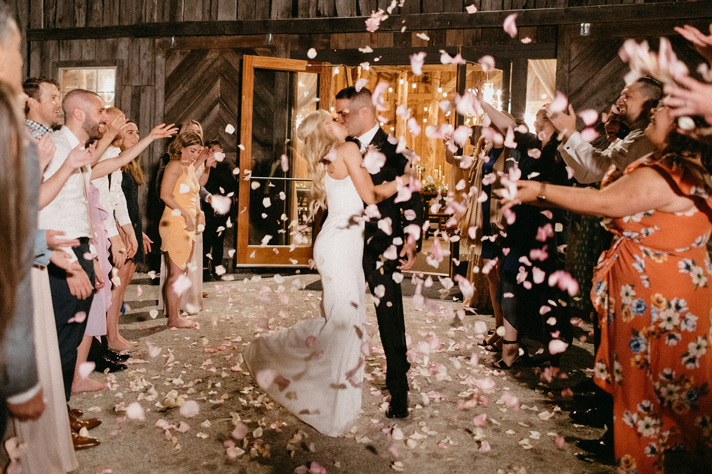
[[[82,237],[79,239],[79,246],[74,247],[74,253],[79,259],[79,263],[89,277],[89,281],[94,284],[94,261],[85,259],[85,254],[89,253],[89,239]],[[57,326],[57,341],[59,343],[59,357],[62,362],[62,378],[64,381],[64,396],[69,402],[72,394],[72,380],[74,378],[74,367],[77,363],[77,348],[84,337],[89,309],[94,298],[92,293],[88,298],[81,300],[73,296],[69,291],[66,272],[56,266],[49,264],[49,286],[52,293],[52,306],[54,308],[54,321]],[[85,313],[86,317],[80,323],[69,322],[77,313]]]

